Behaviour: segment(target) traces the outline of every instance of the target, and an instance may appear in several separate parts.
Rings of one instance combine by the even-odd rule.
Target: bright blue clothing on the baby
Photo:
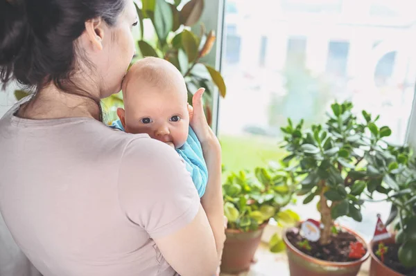
[[[114,121],[110,127],[124,131],[120,120]],[[202,197],[207,187],[208,169],[202,154],[200,141],[191,127],[189,127],[187,141],[176,151],[184,159],[187,171],[191,174],[193,185],[195,185],[199,196]]]

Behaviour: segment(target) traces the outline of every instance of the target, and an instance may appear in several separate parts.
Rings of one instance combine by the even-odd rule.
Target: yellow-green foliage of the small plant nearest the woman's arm
[[[282,210],[292,201],[294,186],[291,175],[285,169],[272,166],[229,174],[223,183],[227,228],[248,232],[259,229],[271,218],[280,223],[298,221],[295,212]]]

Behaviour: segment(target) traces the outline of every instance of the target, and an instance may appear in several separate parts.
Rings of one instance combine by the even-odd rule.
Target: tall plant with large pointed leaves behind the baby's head
[[[204,61],[204,57],[214,46],[216,35],[212,30],[207,32],[203,24],[200,24],[199,34],[191,30],[202,15],[204,0],[191,0],[184,5],[181,3],[181,0],[141,0],[135,3],[139,16],[139,36],[137,37],[139,55],[133,59],[133,62],[148,56],[164,58],[171,62],[184,76],[190,104],[192,104],[193,93],[200,87],[204,87],[205,114],[211,125],[211,101],[214,87],[218,88],[221,97],[224,98],[226,94],[223,77]],[[153,30],[150,30],[155,33],[153,38],[144,35],[144,22],[146,21],[153,26]],[[15,98],[20,100],[28,94],[28,91],[15,91]],[[123,107],[123,96],[117,93],[103,99],[102,102],[106,114],[105,120],[110,124],[117,119],[116,109]]]

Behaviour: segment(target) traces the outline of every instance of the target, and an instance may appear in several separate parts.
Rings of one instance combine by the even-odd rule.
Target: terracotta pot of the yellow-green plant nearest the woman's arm
[[[242,232],[241,230],[226,229],[227,239],[224,243],[221,258],[221,272],[236,274],[248,270],[252,264],[254,253],[259,247],[261,234],[268,223],[263,223],[258,230]]]

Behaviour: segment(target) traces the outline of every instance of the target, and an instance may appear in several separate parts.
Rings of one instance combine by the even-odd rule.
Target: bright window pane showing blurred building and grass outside
[[[416,15],[409,12],[412,1],[399,2],[369,0],[352,7],[341,0],[263,0],[261,10],[279,5],[279,16],[270,22],[262,20],[261,10],[235,1],[235,12],[225,13],[233,26],[225,35],[227,97],[218,119],[226,169],[280,160],[285,153],[278,145],[279,129],[287,118],[303,118],[306,127],[321,123],[335,100],[352,101],[357,116],[362,109],[380,114],[379,124],[392,129],[389,141],[404,142],[416,75],[414,48],[405,46],[416,36]],[[378,12],[374,19],[374,4],[399,16]],[[333,17],[338,13],[342,21]],[[296,210],[315,217],[311,206]],[[347,225],[370,238],[376,213],[389,210],[368,204],[364,222]]]

